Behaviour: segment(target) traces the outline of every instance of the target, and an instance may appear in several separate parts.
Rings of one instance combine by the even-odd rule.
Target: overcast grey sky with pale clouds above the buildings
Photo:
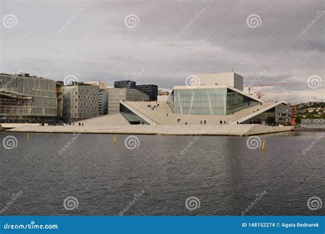
[[[233,69],[247,86],[278,84],[252,88],[265,101],[324,101],[324,10],[324,0],[1,0],[0,72],[171,89]]]

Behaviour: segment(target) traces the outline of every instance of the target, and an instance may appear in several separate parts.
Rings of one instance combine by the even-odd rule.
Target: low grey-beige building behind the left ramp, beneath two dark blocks
[[[103,98],[104,114],[119,112],[120,101],[149,101],[149,95],[131,88],[107,88]]]

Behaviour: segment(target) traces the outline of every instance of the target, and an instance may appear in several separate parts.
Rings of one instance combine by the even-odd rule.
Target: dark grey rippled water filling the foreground
[[[8,135],[16,148],[1,145]],[[138,147],[129,149],[128,135],[115,143],[114,135],[81,134],[71,143],[73,136],[0,133],[0,215],[324,214],[307,200],[325,198],[325,139],[302,153],[320,132],[259,135],[264,151],[241,137],[136,135]],[[77,198],[73,210],[64,208],[69,196]],[[197,209],[186,208],[191,196]]]

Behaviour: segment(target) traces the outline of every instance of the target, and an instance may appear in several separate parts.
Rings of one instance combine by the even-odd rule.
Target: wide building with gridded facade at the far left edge
[[[43,77],[0,74],[0,122],[47,122],[60,118],[60,84]]]

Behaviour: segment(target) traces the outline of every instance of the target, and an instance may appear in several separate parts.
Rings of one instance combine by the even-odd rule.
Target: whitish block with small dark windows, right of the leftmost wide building
[[[63,118],[75,122],[99,116],[99,86],[73,83],[63,87]]]

